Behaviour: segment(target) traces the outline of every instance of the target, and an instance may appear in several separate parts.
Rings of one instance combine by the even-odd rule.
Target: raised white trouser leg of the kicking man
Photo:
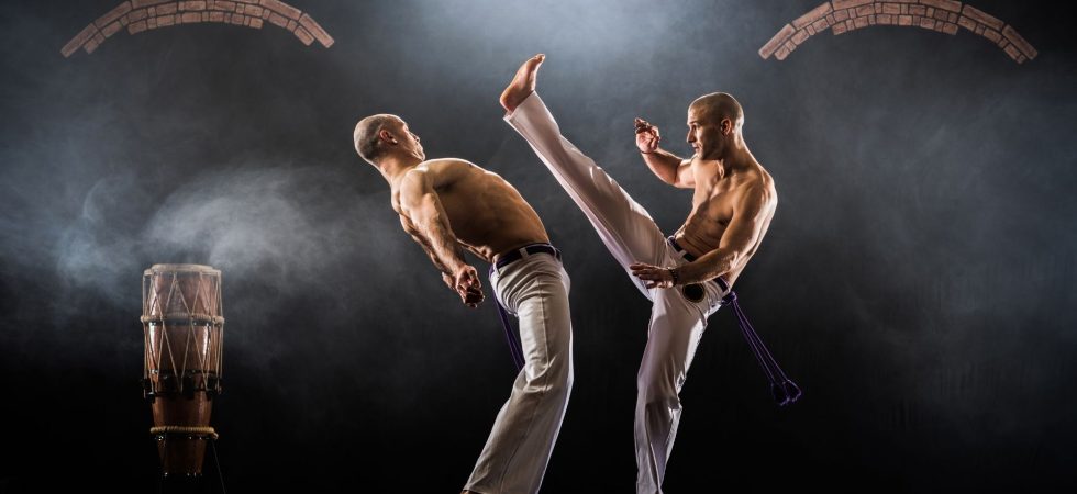
[[[668,248],[665,236],[647,211],[629,197],[615,180],[560,135],[557,122],[538,93],[531,93],[504,116],[549,168],[606,244],[629,278],[647,299],[651,290],[631,274],[633,262],[660,263]]]

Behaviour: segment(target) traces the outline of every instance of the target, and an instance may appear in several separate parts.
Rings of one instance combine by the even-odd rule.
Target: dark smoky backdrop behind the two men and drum
[[[514,370],[352,148],[401,115],[431,157],[501,173],[573,277],[576,381],[544,492],[632,492],[649,307],[497,103],[519,64],[567,136],[675,231],[685,112],[737,97],[780,197],[737,283],[804,390],[778,408],[729,311],[685,385],[666,490],[1077,487],[1072,12],[975,0],[1039,50],[876,26],[756,50],[818,1],[300,1],[336,40],[197,24],[59,48],[119,3],[0,13],[0,492],[153,492],[140,277],[223,271],[232,492],[458,492]],[[485,271],[484,265],[478,265]],[[1069,491],[1072,492],[1072,491]]]

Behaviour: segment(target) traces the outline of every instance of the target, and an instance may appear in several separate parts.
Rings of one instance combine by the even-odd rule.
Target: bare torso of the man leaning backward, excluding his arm
[[[425,173],[441,200],[456,239],[487,262],[526,244],[549,242],[538,214],[501,176],[456,158],[431,159],[409,173]],[[400,181],[392,187],[392,209],[408,233],[415,225],[400,207]]]

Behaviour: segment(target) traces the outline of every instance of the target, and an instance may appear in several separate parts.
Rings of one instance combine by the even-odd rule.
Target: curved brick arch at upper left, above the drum
[[[286,29],[304,45],[315,40],[329,48],[333,37],[314,19],[280,0],[129,0],[87,25],[60,49],[70,57],[79,48],[93,53],[120,30],[138,34],[158,27],[218,22],[260,30],[265,21]]]

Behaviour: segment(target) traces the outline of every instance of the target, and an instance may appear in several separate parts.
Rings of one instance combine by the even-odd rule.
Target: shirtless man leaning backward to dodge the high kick
[[[499,304],[520,321],[522,348],[513,356],[522,369],[464,492],[538,492],[573,385],[569,279],[560,252],[509,182],[463,159],[428,160],[400,117],[367,116],[353,137],[359,156],[389,182],[400,225],[445,284],[470,307],[482,302],[478,273],[464,259],[470,250],[491,265]]]

